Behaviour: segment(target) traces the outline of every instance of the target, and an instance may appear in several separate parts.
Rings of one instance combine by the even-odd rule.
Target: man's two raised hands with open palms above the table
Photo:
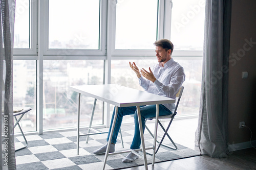
[[[132,68],[132,70],[134,70],[134,72],[136,73],[138,78],[143,76],[144,78],[146,78],[147,80],[152,81],[153,83],[157,80],[155,78],[153,72],[151,71],[151,68],[149,68],[150,72],[148,72],[144,68],[139,70],[139,68],[136,66],[135,62],[133,62],[133,63],[129,62],[129,65]]]

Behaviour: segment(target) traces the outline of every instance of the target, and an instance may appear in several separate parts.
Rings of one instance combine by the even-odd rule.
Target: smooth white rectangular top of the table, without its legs
[[[175,99],[117,84],[69,86],[69,89],[118,107],[175,103]]]

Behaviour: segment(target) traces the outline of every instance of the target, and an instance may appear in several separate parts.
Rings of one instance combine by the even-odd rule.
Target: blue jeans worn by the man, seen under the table
[[[112,123],[113,123],[113,119],[114,119],[114,114],[115,114],[115,109],[112,114],[110,129],[109,129],[109,133],[108,133],[108,137],[106,138],[106,141],[109,141],[110,131],[111,131],[111,127],[112,127]],[[120,127],[122,124],[123,116],[131,115],[131,114],[134,114],[135,129],[134,129],[133,142],[131,144],[130,149],[134,150],[134,149],[139,149],[140,144],[141,144],[139,122],[138,122],[136,106],[119,107],[118,108],[115,128],[114,128],[111,142],[116,143],[117,135],[119,133],[119,130],[120,130]],[[156,105],[140,106],[140,114],[141,114],[142,129],[143,129],[143,133],[144,133],[145,119],[156,116]],[[172,114],[172,112],[169,111],[169,109],[167,109],[164,105],[159,105],[159,116],[168,115],[168,114]]]

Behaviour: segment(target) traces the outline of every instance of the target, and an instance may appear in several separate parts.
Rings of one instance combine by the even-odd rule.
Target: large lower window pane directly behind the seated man
[[[175,58],[174,58],[175,59]],[[143,90],[134,71],[129,66],[130,62],[135,62],[139,68],[152,67],[157,60],[112,60],[111,83],[119,84]],[[200,91],[202,79],[202,59],[176,60],[185,70],[186,80],[183,83],[184,92],[178,107],[177,116],[191,115],[199,113]],[[114,108],[112,108],[113,110]],[[133,121],[133,117],[125,116],[124,122]]]

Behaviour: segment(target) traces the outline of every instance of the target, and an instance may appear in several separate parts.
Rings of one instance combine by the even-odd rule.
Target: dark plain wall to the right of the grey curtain
[[[249,44],[252,40],[254,44]],[[233,0],[231,15],[229,59],[229,143],[250,141],[247,128],[239,129],[244,121],[256,139],[256,1]],[[240,57],[240,56],[241,57]],[[242,79],[242,71],[248,71],[248,79]]]

